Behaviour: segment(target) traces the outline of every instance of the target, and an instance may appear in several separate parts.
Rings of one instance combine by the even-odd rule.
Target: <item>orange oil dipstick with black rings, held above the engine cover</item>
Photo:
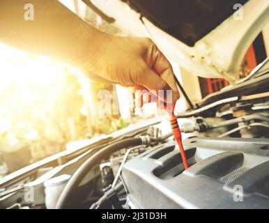
[[[185,151],[184,151],[184,148],[183,148],[181,132],[180,132],[180,128],[178,126],[178,120],[177,120],[177,117],[174,114],[175,105],[176,105],[176,103],[174,103],[172,105],[171,112],[169,112],[168,110],[167,110],[167,112],[169,113],[169,116],[170,116],[169,122],[170,122],[170,125],[171,125],[172,132],[174,134],[174,138],[176,139],[176,142],[178,143],[178,147],[179,147],[179,150],[180,150],[180,155],[182,157],[184,169],[187,169],[187,168],[189,168],[189,164],[187,163],[187,157],[186,157],[186,154],[185,154]]]

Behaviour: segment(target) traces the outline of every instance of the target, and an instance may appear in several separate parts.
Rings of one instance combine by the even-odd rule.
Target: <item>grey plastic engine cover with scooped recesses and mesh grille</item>
[[[184,141],[191,165],[174,141],[123,167],[136,208],[269,208],[269,140],[194,138]]]

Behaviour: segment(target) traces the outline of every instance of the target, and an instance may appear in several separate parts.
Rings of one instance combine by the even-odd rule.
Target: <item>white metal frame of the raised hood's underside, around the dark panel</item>
[[[249,45],[269,21],[269,1],[249,0],[235,14],[189,47],[157,28],[120,0],[91,0],[116,24],[136,36],[148,36],[166,56],[195,75],[233,83]],[[240,20],[242,18],[242,20]],[[146,27],[145,27],[146,26]]]

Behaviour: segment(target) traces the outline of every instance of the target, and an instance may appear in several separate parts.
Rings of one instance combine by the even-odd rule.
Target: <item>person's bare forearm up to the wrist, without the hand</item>
[[[33,21],[24,19],[26,3],[33,4]],[[57,0],[0,1],[0,42],[28,52],[82,65],[102,53],[106,36]]]

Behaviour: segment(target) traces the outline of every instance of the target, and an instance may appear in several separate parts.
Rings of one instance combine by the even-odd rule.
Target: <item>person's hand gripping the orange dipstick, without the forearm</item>
[[[143,102],[151,102],[153,94],[167,102],[168,94],[172,93],[172,102],[178,100],[171,64],[149,38],[104,35],[101,53],[95,54],[94,62],[85,64],[92,72],[91,79],[139,90],[136,91],[138,107]],[[158,94],[159,90],[164,90],[164,95]]]

